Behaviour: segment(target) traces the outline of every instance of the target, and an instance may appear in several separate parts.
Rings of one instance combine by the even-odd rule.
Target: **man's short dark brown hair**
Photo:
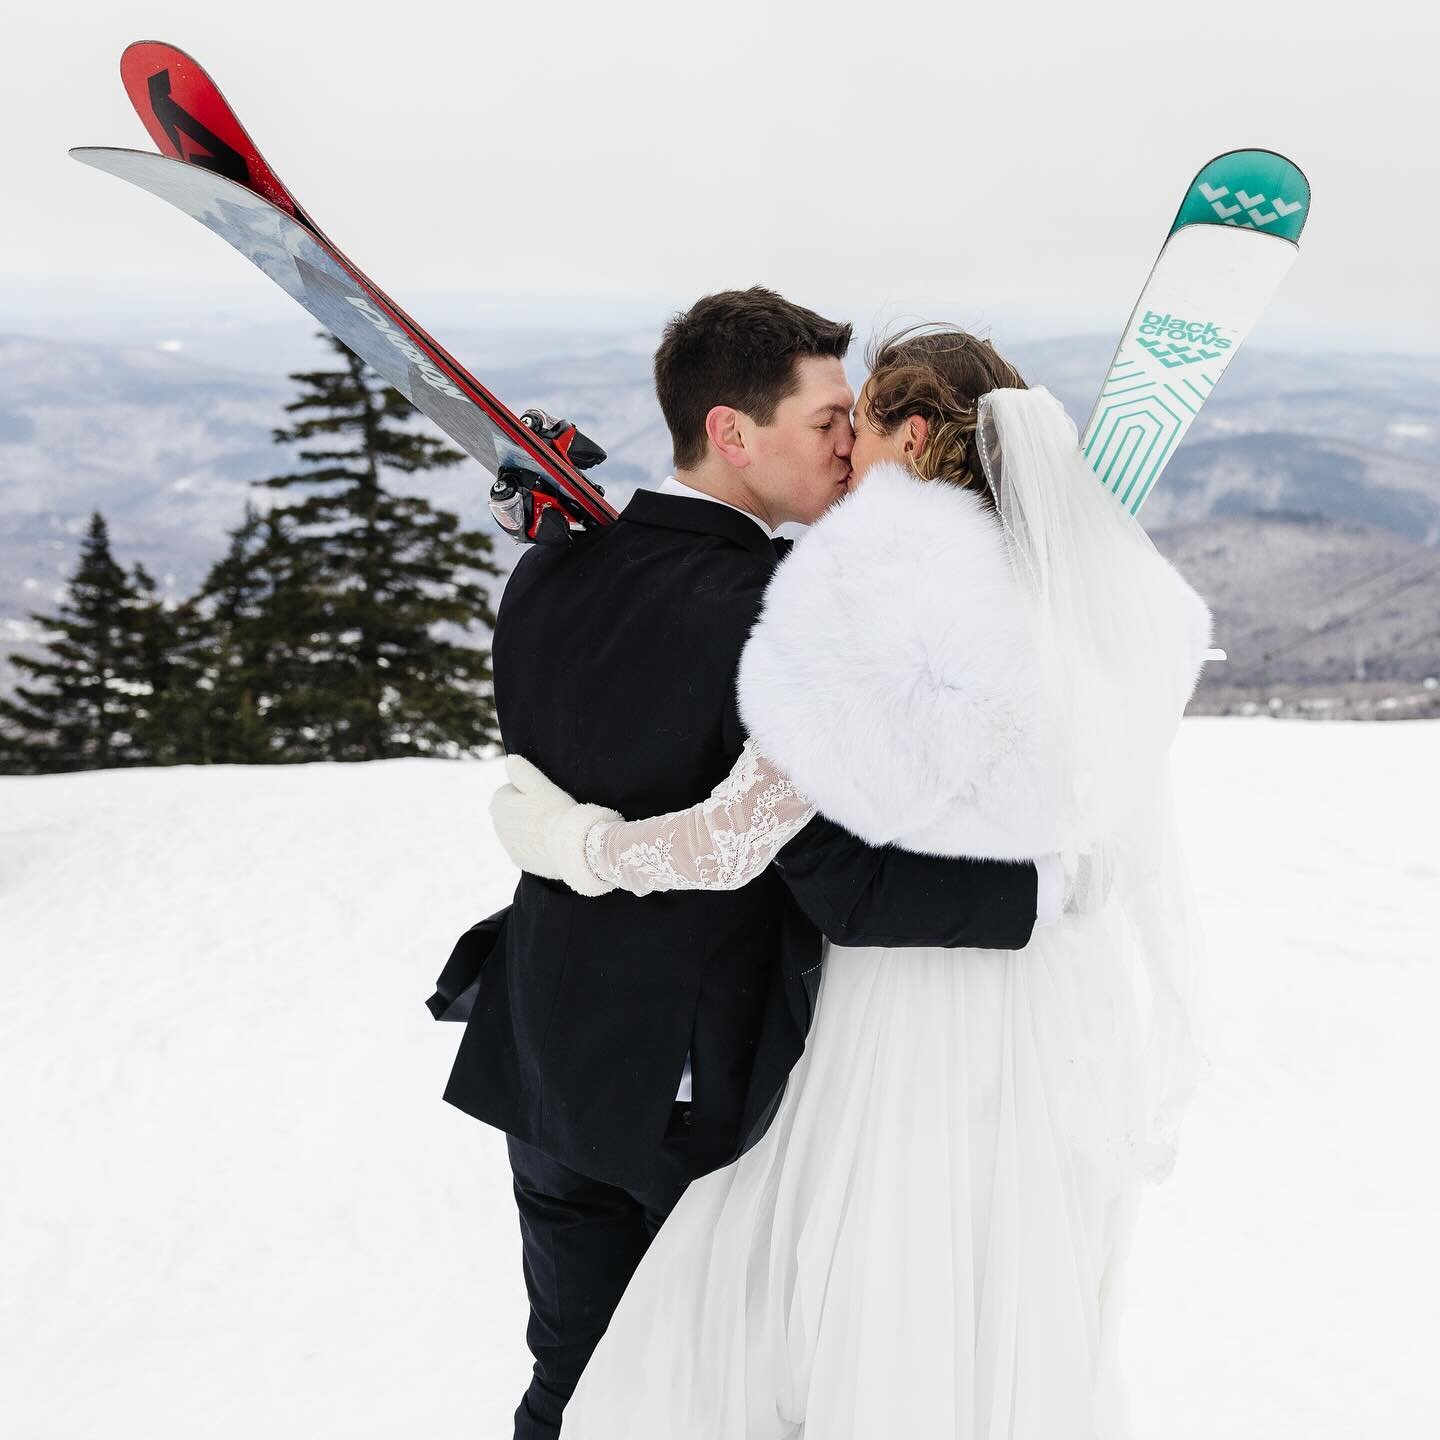
[[[845,357],[851,327],[773,289],[724,289],[671,317],[655,351],[655,393],[675,446],[675,469],[706,456],[706,416],[717,405],[769,425],[799,384],[801,356]]]

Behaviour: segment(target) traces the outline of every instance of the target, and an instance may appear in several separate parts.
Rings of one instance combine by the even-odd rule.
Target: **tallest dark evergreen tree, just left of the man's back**
[[[288,683],[266,723],[289,759],[477,753],[497,739],[490,654],[438,629],[494,624],[484,585],[500,573],[491,539],[428,500],[390,492],[382,475],[465,456],[405,428],[409,400],[338,340],[323,338],[344,366],[292,374],[304,389],[285,409],[300,419],[274,436],[324,448],[301,449],[311,468],[262,482],[308,491],[284,510],[288,563],[304,585],[275,626]]]

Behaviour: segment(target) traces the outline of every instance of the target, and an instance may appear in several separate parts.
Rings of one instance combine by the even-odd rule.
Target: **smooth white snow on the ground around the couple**
[[[1132,1264],[1136,1430],[1440,1433],[1440,724],[1189,720],[1212,1076]],[[498,766],[0,779],[0,1431],[505,1437],[500,1136],[423,1008]]]

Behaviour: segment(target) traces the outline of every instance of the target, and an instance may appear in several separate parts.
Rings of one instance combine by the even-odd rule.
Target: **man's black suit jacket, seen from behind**
[[[570,549],[530,550],[495,624],[507,750],[625,816],[703,799],[744,742],[736,667],[775,563],[746,516],[652,491]],[[445,1099],[642,1189],[688,1051],[703,1174],[773,1113],[809,1025],[821,932],[1018,949],[1034,919],[1034,865],[874,850],[825,819],[727,893],[586,900],[526,874],[514,904],[461,939],[431,1001],[438,1017],[468,1012]]]

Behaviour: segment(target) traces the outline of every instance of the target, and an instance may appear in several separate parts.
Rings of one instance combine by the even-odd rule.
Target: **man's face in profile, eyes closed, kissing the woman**
[[[779,524],[811,524],[845,494],[855,432],[855,395],[840,360],[802,356],[798,386],[776,406],[769,425],[752,432],[749,480]]]

